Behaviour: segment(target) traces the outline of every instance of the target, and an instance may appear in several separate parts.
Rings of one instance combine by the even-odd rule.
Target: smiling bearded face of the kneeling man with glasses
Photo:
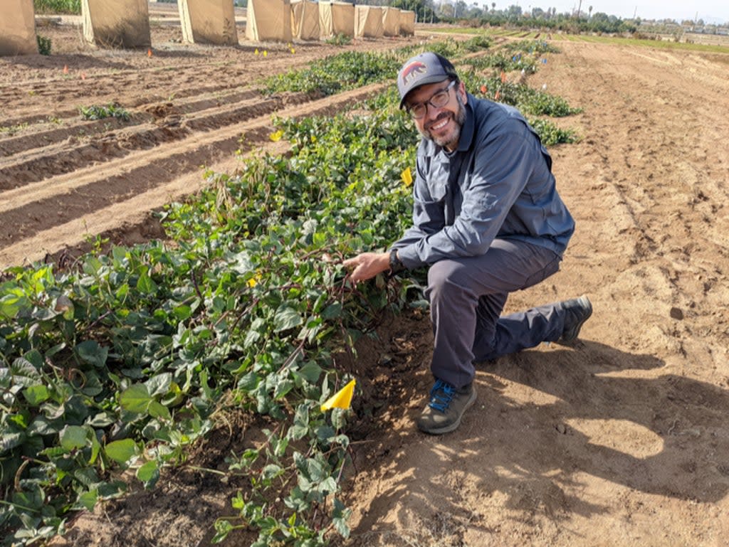
[[[408,94],[408,107],[416,106],[430,101],[433,95],[442,92],[451,81],[446,79],[435,84],[425,84],[416,87]],[[451,87],[448,93],[448,102],[440,108],[432,104],[427,105],[426,113],[419,119],[414,119],[418,132],[425,138],[433,141],[447,150],[455,150],[461,137],[461,127],[466,121],[466,88],[463,82]]]

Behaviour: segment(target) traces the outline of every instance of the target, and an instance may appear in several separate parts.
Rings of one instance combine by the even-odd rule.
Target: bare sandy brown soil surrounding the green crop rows
[[[263,59],[152,32],[151,57],[49,28],[57,55],[0,59],[2,266],[72,256],[87,234],[160,235],[146,211],[203,184],[200,165],[234,168],[236,149],[267,141],[271,113],[332,111],[377,88],[263,98],[258,75],[341,48],[272,45]],[[443,437],[413,426],[431,383],[428,318],[387,320],[351,363],[358,412],[373,417],[352,432],[344,546],[729,546],[729,54],[553,44],[561,54],[530,83],[584,109],[559,120],[580,143],[551,149],[577,232],[561,272],[507,311],[588,294],[593,318],[572,348],[482,363],[477,404]],[[130,124],[79,120],[78,106],[110,101]],[[54,543],[208,546],[239,485],[195,468],[225,469],[263,425],[242,420],[154,492],[79,516]]]

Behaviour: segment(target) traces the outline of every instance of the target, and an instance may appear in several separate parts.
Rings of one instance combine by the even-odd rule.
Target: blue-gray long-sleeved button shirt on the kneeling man
[[[458,149],[421,141],[413,227],[392,247],[408,269],[483,255],[496,237],[561,256],[574,220],[551,168],[547,149],[516,109],[469,94]]]

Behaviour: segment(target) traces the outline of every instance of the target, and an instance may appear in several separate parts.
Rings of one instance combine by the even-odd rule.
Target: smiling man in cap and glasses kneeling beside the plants
[[[466,93],[453,65],[426,52],[397,87],[423,139],[413,227],[385,253],[344,261],[357,283],[390,270],[429,267],[435,383],[418,428],[453,431],[476,400],[474,361],[570,344],[592,314],[586,296],[500,317],[507,296],[552,275],[574,232],[555,189],[552,160],[510,106]]]

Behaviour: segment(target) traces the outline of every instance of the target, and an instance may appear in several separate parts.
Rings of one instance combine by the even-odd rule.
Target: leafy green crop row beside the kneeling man
[[[488,42],[477,40],[468,47]],[[349,81],[343,59],[329,70]],[[382,71],[368,77],[394,78],[383,59],[362,64]],[[279,120],[272,138],[290,141],[290,153],[246,160],[235,176],[208,173],[209,189],[165,211],[171,243],[89,253],[64,272],[6,272],[4,546],[63,533],[73,511],[124,494],[125,470],[154,487],[230,409],[268,427],[264,441],[228,458],[225,473],[246,487],[235,513],[215,523],[215,539],[239,527],[258,531],[256,547],[348,535],[338,496],[352,414],[320,406],[348,379],[337,356],[352,355],[383,310],[422,305],[412,302],[421,279],[354,288],[340,264],[384,248],[410,222],[403,173],[418,139],[397,103],[391,87],[356,116]]]

